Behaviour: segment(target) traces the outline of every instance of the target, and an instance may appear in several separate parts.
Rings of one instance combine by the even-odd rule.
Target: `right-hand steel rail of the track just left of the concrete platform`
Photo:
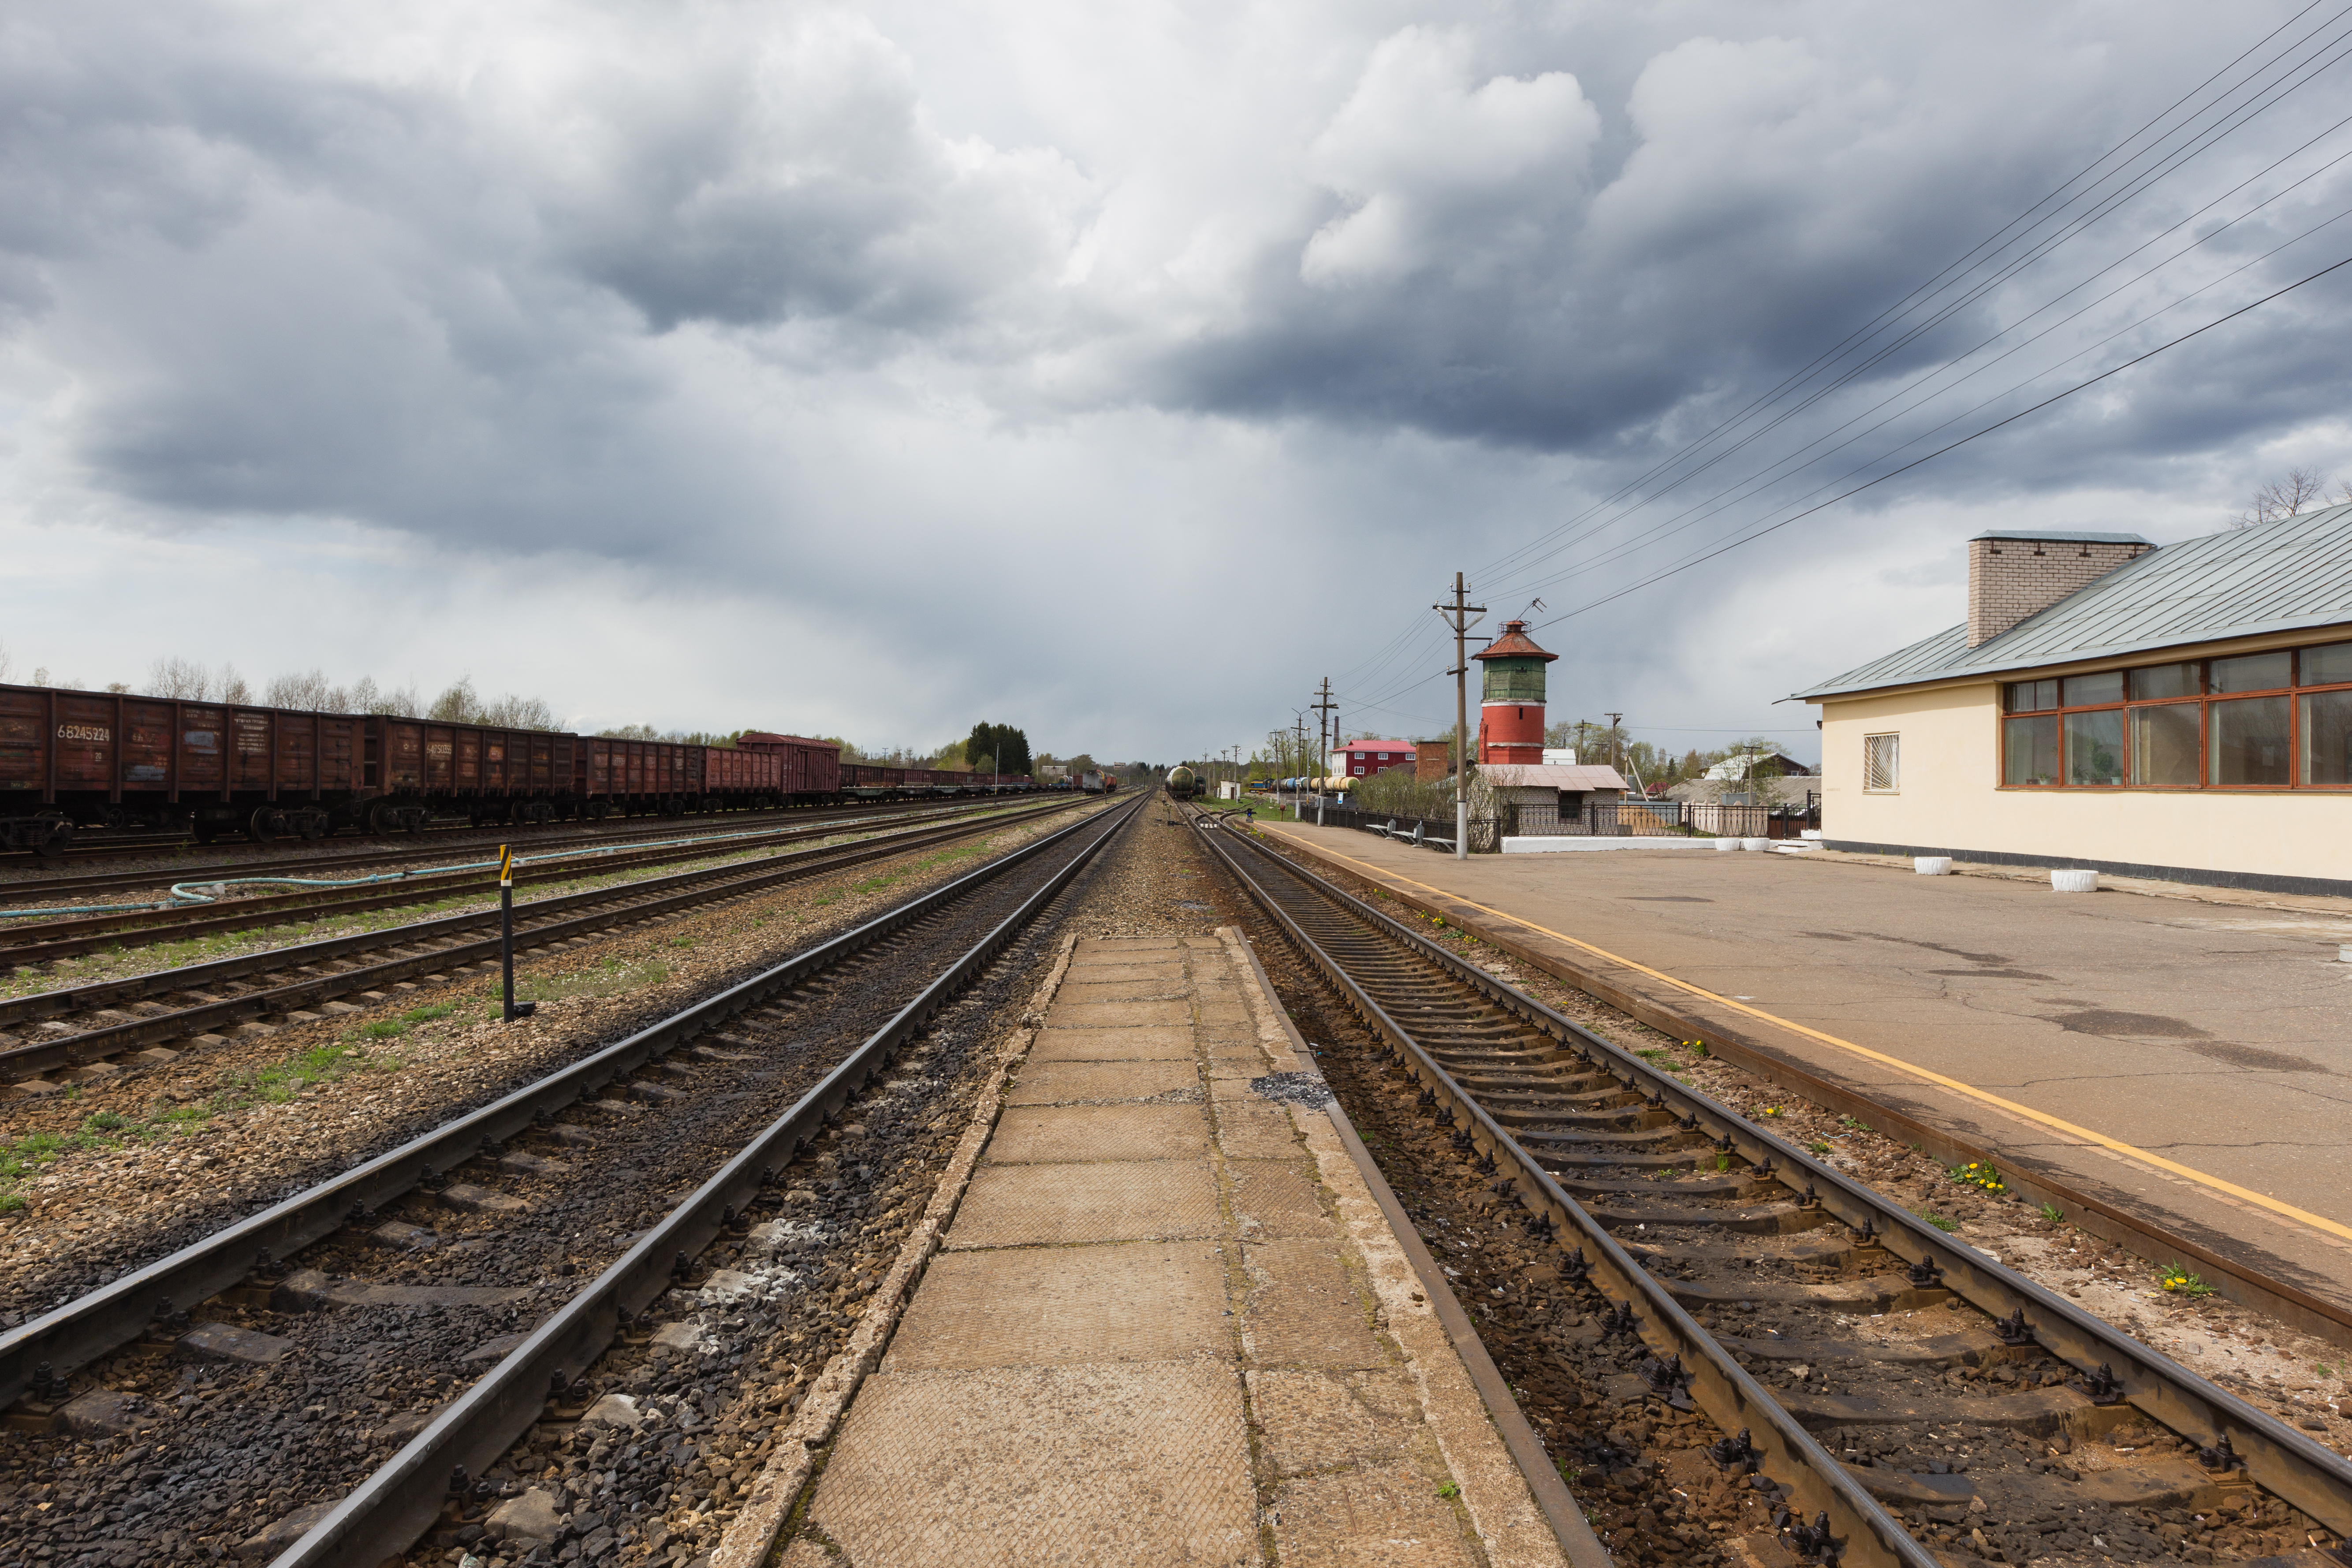
[[[1049,877],[1044,886],[1030,893],[1018,910],[964,950],[922,994],[898,1009],[889,1023],[875,1030],[788,1112],[753,1138],[741,1154],[729,1159],[628,1253],[532,1331],[522,1345],[508,1352],[473,1387],[459,1394],[430,1427],[419,1432],[407,1448],[353,1488],[334,1512],[287,1547],[270,1568],[374,1568],[388,1549],[395,1549],[395,1542],[407,1547],[423,1535],[449,1497],[452,1479],[461,1469],[480,1474],[506,1453],[539,1420],[550,1392],[562,1389],[595,1363],[621,1333],[623,1321],[644,1312],[675,1284],[677,1265],[720,1237],[727,1220],[748,1208],[762,1187],[774,1180],[774,1171],[802,1143],[833,1121],[842,1105],[849,1103],[849,1095],[877,1070],[887,1067],[898,1048],[1094,860],[1103,844],[1136,816],[1143,799],[1148,797],[1136,799],[1124,811],[1105,811],[1075,823],[1051,839],[1040,839],[1018,856],[1000,863],[1000,867],[1011,865],[1016,858],[1042,853],[1051,844],[1101,825],[1101,832]],[[953,886],[960,889],[964,882]],[[941,893],[948,891],[941,889]],[[938,896],[931,898],[938,900]],[[771,983],[771,976],[760,976],[724,997],[701,1004],[701,1011],[731,1004],[720,1018],[731,1016],[781,983],[788,980]],[[760,990],[753,992],[750,987]],[[677,1020],[670,1020],[647,1034],[677,1027]],[[680,1039],[670,1037],[668,1044],[680,1044]]]

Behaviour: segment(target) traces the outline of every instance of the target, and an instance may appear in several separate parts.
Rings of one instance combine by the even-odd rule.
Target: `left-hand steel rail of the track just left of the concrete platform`
[[[332,1175],[289,1199],[270,1204],[261,1213],[223,1225],[212,1237],[132,1269],[113,1284],[45,1312],[21,1328],[0,1333],[0,1406],[24,1394],[40,1363],[49,1363],[52,1375],[64,1375],[71,1368],[87,1366],[120,1349],[136,1340],[153,1321],[169,1319],[179,1305],[207,1300],[245,1279],[263,1260],[289,1258],[346,1222],[383,1208],[416,1187],[426,1175],[473,1159],[485,1145],[506,1143],[541,1119],[553,1117],[560,1107],[597,1093],[623,1072],[727,1023],[760,999],[863,952],[931,910],[971,893],[1007,870],[1061,844],[1073,832],[1084,830],[1089,820],[1094,818],[1073,823],[955,882],[917,893],[854,931],[844,931],[774,969],[764,969],[715,997],[673,1013],[663,1023],[583,1056],[567,1067],[557,1067],[480,1110],[445,1121],[430,1133],[421,1133],[341,1175]]]

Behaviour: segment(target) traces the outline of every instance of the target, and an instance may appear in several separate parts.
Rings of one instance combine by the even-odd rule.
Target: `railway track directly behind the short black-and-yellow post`
[[[957,813],[948,823],[903,827],[854,844],[541,898],[515,907],[515,952],[562,950],[619,926],[995,832],[1075,804],[1058,799],[978,818]],[[268,1032],[285,1020],[355,1011],[353,1004],[339,1004],[339,997],[374,1001],[390,987],[496,966],[499,940],[499,912],[477,910],[14,997],[0,1001],[0,1084],[14,1086],[19,1095],[42,1095],[56,1093],[56,1079],[68,1074],[160,1067],[191,1048],[216,1044],[223,1032]]]

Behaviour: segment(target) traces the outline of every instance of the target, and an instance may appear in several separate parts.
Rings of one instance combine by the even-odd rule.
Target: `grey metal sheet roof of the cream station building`
[[[2352,505],[2159,545],[1980,646],[1969,646],[1966,623],[1952,625],[1792,696],[1820,701],[2319,625],[2352,625]]]

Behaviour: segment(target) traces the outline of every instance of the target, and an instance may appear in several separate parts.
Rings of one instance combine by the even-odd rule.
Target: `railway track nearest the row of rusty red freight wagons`
[[[555,825],[522,825],[522,827],[470,827],[470,825],[447,825],[435,827],[426,835],[402,835],[400,842],[383,846],[379,842],[369,849],[341,849],[336,844],[320,844],[308,853],[296,856],[268,856],[256,844],[245,849],[245,856],[223,856],[221,846],[205,849],[202,856],[191,856],[186,863],[153,865],[129,872],[78,872],[56,867],[54,860],[26,860],[0,856],[0,900],[14,903],[75,903],[82,898],[96,898],[103,893],[125,893],[169,886],[172,882],[202,882],[205,877],[303,877],[303,875],[336,875],[341,870],[372,870],[381,865],[407,865],[414,860],[442,860],[459,851],[463,844],[527,844],[534,851],[546,849],[574,849],[593,844],[633,844],[640,839],[675,839],[694,832],[696,827],[710,827],[713,832],[760,827],[767,823],[776,825],[814,825],[814,823],[847,823],[858,818],[896,816],[901,811],[924,811],[936,809],[936,799],[913,799],[913,802],[877,802],[868,806],[828,806],[828,809],[793,809],[793,811],[724,811],[717,816],[694,816],[694,818],[661,818],[661,825],[647,827],[642,818],[616,818],[612,827],[555,827]],[[141,849],[120,849],[115,856],[132,853],[158,853],[176,846],[191,846],[191,839],[160,839]],[[7,875],[28,872],[28,875]]]

